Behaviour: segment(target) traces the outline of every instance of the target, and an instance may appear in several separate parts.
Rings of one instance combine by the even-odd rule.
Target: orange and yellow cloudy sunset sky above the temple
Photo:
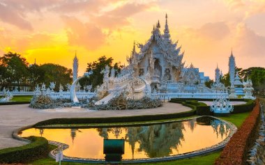
[[[265,0],[0,0],[0,56],[72,68],[76,50],[82,75],[103,55],[126,63],[166,13],[186,65],[213,78],[217,63],[227,72],[233,47],[239,68],[265,67]]]

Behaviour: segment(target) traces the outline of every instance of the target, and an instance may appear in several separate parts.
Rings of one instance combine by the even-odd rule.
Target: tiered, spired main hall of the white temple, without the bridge
[[[174,84],[176,88],[186,86],[195,92],[195,86],[200,84],[202,87],[207,77],[204,77],[204,72],[199,72],[199,69],[192,64],[188,68],[184,67],[184,52],[181,51],[178,42],[172,42],[167,15],[165,18],[163,31],[158,21],[156,26],[153,26],[151,37],[145,44],[133,45],[132,52],[127,57],[129,63],[127,69],[133,70],[135,77],[142,77],[149,81],[152,90],[163,84]],[[136,46],[139,52],[136,51]],[[183,90],[185,91],[184,88]],[[175,89],[174,92],[181,91]]]

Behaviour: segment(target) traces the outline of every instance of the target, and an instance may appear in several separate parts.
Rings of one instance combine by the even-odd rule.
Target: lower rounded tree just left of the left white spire
[[[55,91],[59,91],[60,84],[66,86],[72,81],[72,70],[61,65],[46,63],[40,65],[40,69],[45,72],[43,82],[46,86],[50,86],[50,82],[56,82]]]

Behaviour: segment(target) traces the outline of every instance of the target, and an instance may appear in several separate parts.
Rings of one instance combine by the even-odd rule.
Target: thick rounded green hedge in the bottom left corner
[[[0,150],[0,164],[32,162],[49,152],[48,141],[43,137],[29,136],[32,143],[25,146]]]

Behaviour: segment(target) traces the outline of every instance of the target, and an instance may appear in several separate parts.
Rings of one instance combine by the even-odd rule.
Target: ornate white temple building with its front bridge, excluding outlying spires
[[[100,97],[107,91],[109,95],[97,104],[106,103],[117,95],[117,91],[126,91],[131,98],[140,98],[147,93],[164,98],[215,98],[219,95],[204,85],[207,77],[204,77],[203,72],[199,72],[192,64],[188,68],[184,67],[184,52],[181,52],[178,42],[172,42],[170,38],[167,15],[164,33],[160,28],[158,21],[153,26],[149,40],[145,44],[137,44],[139,52],[133,45],[127,57],[129,65],[117,77],[109,77],[109,68],[105,68],[103,84],[98,86],[96,93]],[[228,93],[225,96],[228,97]]]

